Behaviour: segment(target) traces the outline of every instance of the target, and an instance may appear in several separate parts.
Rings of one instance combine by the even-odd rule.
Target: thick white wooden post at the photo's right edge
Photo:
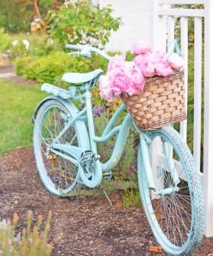
[[[213,236],[213,1],[205,0],[204,198],[205,235]]]

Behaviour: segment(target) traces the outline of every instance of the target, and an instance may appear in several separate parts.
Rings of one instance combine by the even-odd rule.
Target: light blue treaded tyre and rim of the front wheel
[[[160,246],[168,255],[191,255],[193,250],[197,247],[199,242],[202,240],[203,234],[204,234],[204,195],[202,191],[200,177],[197,172],[197,168],[195,167],[193,157],[191,156],[191,151],[189,150],[187,145],[184,143],[179,133],[175,131],[171,126],[166,126],[156,131],[151,131],[149,133],[149,136],[152,142],[154,138],[158,137],[158,138],[163,138],[164,142],[166,143],[169,142],[170,144],[172,144],[172,154],[175,150],[176,152],[175,156],[179,157],[179,161],[182,164],[183,170],[185,172],[185,178],[187,180],[189,191],[187,192],[188,194],[185,193],[186,187],[183,187],[183,189],[182,188],[179,189],[179,191],[184,191],[184,192],[180,192],[182,193],[182,195],[181,194],[178,195],[179,192],[178,193],[172,192],[173,195],[172,194],[157,195],[156,199],[151,198],[152,195],[150,193],[150,189],[148,188],[146,170],[143,164],[143,157],[141,155],[142,154],[141,147],[139,147],[138,182],[139,182],[141,201],[142,201],[145,213],[147,214],[147,220],[149,221],[149,224],[152,228],[153,235],[155,236]],[[152,160],[151,154],[149,156],[151,161]],[[168,169],[168,167],[166,168]],[[177,169],[177,167],[174,167],[174,168]],[[162,171],[161,167],[158,169],[158,171],[159,170],[160,172]],[[172,175],[170,176],[171,178],[170,182],[172,183],[172,185],[171,184],[168,185],[169,179],[167,183],[165,182],[166,175],[169,176],[168,174],[166,174],[168,171],[166,170],[163,170],[163,171],[165,172],[165,174],[164,176],[160,174],[163,178],[161,179],[161,184],[159,186],[164,186],[167,188],[174,186],[174,181],[171,178]],[[172,171],[174,172],[174,170]],[[158,173],[158,176],[159,176],[159,173]],[[185,181],[181,180],[181,182],[185,184]],[[180,183],[179,183],[179,186],[180,186]],[[159,191],[161,191],[160,193],[162,194],[162,191],[166,191],[166,190],[159,190]],[[168,199],[169,196],[170,196],[170,199]],[[181,196],[182,196],[182,199],[179,199],[181,198]],[[189,197],[190,197],[190,202],[188,201]],[[171,202],[171,198],[173,199],[173,205]],[[165,203],[165,205],[166,204],[167,205],[163,206],[162,202]],[[183,205],[181,206],[182,208],[180,208],[179,210],[178,205],[180,205],[180,202],[182,202]],[[191,203],[191,206],[189,207],[187,203],[188,204]],[[161,212],[160,212],[160,208],[162,208]],[[186,212],[188,211],[187,208],[188,209],[191,208],[191,214],[188,214],[188,215],[186,214]],[[177,212],[176,216],[175,216],[175,212]],[[170,217],[170,220],[168,221],[170,222],[165,221],[167,213],[169,214],[168,216]],[[182,215],[184,213],[186,217]],[[182,219],[183,226],[185,225],[184,227],[185,233],[186,233],[185,236],[183,234],[184,228],[181,229],[181,227],[179,226],[178,227],[179,230],[178,230],[176,227],[179,225],[178,223],[181,222],[181,219]],[[188,219],[191,219],[191,222]],[[166,227],[166,225],[167,226],[173,225],[173,226],[170,229],[170,227]],[[187,226],[190,225],[190,228],[188,228],[186,225]],[[174,230],[174,228],[176,229]],[[174,237],[173,240],[172,240],[172,235],[170,237],[170,234],[169,234],[170,230],[173,232],[173,237]],[[183,234],[183,237],[180,240],[181,242],[179,242],[178,239],[176,240],[176,235],[178,234],[178,232],[180,236],[182,236]]]

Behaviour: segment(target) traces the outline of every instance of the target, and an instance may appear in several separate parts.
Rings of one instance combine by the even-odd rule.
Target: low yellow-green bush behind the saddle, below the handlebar
[[[101,56],[95,55],[91,59],[85,59],[68,56],[62,51],[41,57],[22,56],[16,60],[16,73],[39,83],[58,82],[66,72],[89,72],[96,68],[105,70],[106,67],[107,61]]]

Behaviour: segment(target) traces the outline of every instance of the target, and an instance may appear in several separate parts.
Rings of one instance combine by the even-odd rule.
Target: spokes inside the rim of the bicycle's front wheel
[[[162,140],[153,192],[153,212],[160,229],[175,246],[183,246],[191,230],[191,196],[177,152]]]

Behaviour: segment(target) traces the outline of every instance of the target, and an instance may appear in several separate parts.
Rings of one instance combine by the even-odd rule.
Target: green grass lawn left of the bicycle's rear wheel
[[[0,155],[32,144],[31,118],[45,95],[39,86],[0,80]]]

